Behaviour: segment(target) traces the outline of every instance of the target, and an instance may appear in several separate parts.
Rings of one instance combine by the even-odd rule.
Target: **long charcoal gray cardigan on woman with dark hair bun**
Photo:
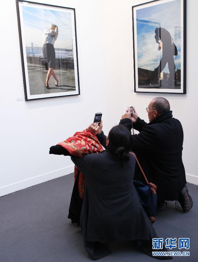
[[[91,257],[110,253],[100,244],[104,240],[138,240],[138,247],[152,256],[152,238],[157,235],[133,185],[135,158],[130,155],[125,167],[108,151],[71,160],[86,179],[81,227]]]

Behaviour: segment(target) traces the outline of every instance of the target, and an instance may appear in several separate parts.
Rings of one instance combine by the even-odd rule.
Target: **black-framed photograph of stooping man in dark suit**
[[[186,94],[186,1],[132,6],[135,92]]]

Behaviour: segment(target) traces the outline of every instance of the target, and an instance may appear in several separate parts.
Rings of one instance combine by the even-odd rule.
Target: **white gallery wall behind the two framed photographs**
[[[42,1],[54,4],[54,1]],[[143,1],[142,1],[143,2]],[[86,128],[103,113],[104,132],[127,105],[147,120],[146,107],[158,94],[134,93],[132,10],[141,1],[57,0],[75,8],[81,95],[24,101],[15,0],[1,4],[1,178],[0,196],[73,172],[69,157],[49,147]],[[183,162],[188,182],[198,184],[196,0],[187,1],[187,95],[163,94],[184,130]],[[2,30],[2,29],[1,29]],[[9,52],[6,52],[9,50]],[[17,102],[16,98],[23,101]],[[79,117],[79,116],[82,116]],[[191,120],[193,116],[193,121]]]

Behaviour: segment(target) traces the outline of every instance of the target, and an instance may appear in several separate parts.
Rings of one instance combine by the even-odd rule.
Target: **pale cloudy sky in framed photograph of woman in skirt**
[[[71,13],[30,6],[22,6],[22,11],[26,46],[31,46],[31,42],[43,46],[44,30],[49,29],[49,24],[56,24],[59,35],[54,47],[72,47]]]

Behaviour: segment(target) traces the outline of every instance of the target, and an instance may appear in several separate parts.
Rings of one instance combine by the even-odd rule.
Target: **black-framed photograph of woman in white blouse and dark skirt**
[[[75,9],[16,6],[25,100],[79,95]]]

